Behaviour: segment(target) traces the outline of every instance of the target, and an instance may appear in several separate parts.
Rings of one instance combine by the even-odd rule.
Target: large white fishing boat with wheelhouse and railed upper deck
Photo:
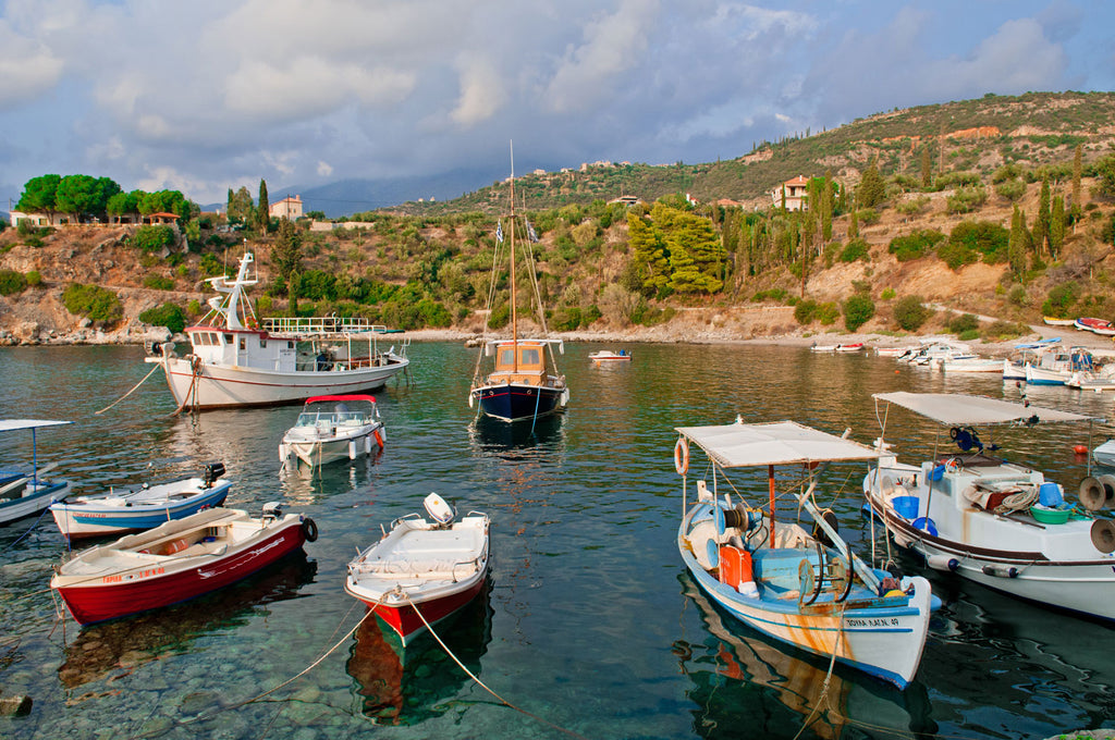
[[[210,312],[186,327],[191,350],[178,357],[172,342],[153,349],[146,362],[163,367],[180,408],[197,410],[294,403],[312,396],[357,393],[382,388],[406,370],[409,340],[398,352],[379,349],[386,327],[350,317],[255,318],[243,290],[251,252],[234,280],[211,278],[222,295]]]

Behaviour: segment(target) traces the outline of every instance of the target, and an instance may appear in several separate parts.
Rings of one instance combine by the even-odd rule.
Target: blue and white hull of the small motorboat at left
[[[183,519],[203,509],[221,506],[227,498],[230,488],[231,480],[220,480],[195,496],[155,506],[114,506],[97,499],[86,503],[59,502],[50,507],[50,514],[54,515],[58,529],[70,539],[116,535],[151,529],[166,522]]]

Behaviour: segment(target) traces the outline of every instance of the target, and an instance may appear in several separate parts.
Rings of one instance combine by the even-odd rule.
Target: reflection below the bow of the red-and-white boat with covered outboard
[[[489,593],[486,585],[459,612],[434,625],[449,651],[476,675],[492,641]],[[428,632],[403,648],[375,615],[357,630],[346,670],[355,679],[359,711],[378,724],[416,724],[444,714],[450,708],[446,700],[471,681]]]

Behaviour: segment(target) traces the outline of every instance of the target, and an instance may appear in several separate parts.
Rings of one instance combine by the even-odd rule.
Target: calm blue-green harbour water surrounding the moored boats
[[[0,692],[35,702],[27,717],[0,719],[0,737],[570,737],[555,726],[593,739],[794,738],[808,724],[801,737],[1017,738],[1115,724],[1107,626],[929,573],[944,606],[915,683],[898,692],[837,668],[822,702],[827,663],[711,606],[676,549],[676,426],[788,418],[851,427],[866,442],[879,429],[872,392],[1019,389],[798,348],[627,345],[634,361],[614,368],[592,367],[597,349],[568,348],[570,409],[532,434],[474,422],[475,350],[416,344],[414,384],[377,395],[382,455],[285,477],[278,444],[297,407],[171,418],[156,374],[97,416],[147,372],[140,350],[0,349],[0,418],[76,421],[42,430],[39,452],[77,493],[222,460],[235,480],[229,506],[258,514],[280,500],[321,532],[304,558],[225,592],[79,629],[58,617],[47,587],[66,549],[54,523],[0,527]],[[1029,397],[1112,411],[1111,396]],[[909,417],[889,430],[900,454],[931,444],[932,429]],[[1096,426],[1094,442],[1111,432]],[[1087,429],[1024,434],[997,441],[1075,490],[1086,467],[1072,447],[1087,444]],[[29,447],[29,437],[0,436],[0,460],[22,460]],[[842,532],[866,554],[862,473],[834,469],[827,481]],[[765,480],[748,485],[765,491]],[[500,705],[432,637],[400,659],[371,620],[348,634],[363,610],[342,590],[346,564],[430,490],[493,519],[491,588],[438,632],[482,681],[545,722]]]

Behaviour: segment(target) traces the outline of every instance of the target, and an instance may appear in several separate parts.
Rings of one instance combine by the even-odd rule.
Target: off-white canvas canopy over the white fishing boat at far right
[[[969,425],[1011,423],[1026,421],[1028,423],[1054,421],[1088,421],[1094,417],[1058,411],[1040,406],[1026,406],[983,396],[964,396],[960,393],[875,393],[876,400],[886,401],[910,409],[914,413],[939,421],[950,427]]]

